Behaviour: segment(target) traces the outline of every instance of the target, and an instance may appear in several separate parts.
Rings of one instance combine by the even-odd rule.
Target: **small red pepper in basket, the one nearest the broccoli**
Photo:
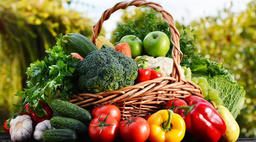
[[[138,76],[134,81],[135,84],[143,81],[148,81],[150,79],[150,74],[151,71],[146,64],[146,61],[143,61],[142,64],[140,64],[140,66],[138,67]]]

